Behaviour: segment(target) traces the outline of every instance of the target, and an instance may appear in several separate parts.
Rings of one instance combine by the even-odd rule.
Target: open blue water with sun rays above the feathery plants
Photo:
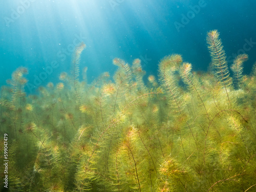
[[[256,1],[170,0],[11,0],[0,3],[0,85],[19,66],[29,69],[34,92],[70,71],[75,45],[83,41],[80,68],[88,81],[113,74],[115,57],[142,60],[146,75],[156,75],[165,55],[182,54],[193,70],[206,71],[206,34],[217,29],[231,65],[246,53],[244,73],[256,61]],[[47,74],[47,75],[42,75]],[[40,80],[37,78],[41,75]],[[36,82],[36,83],[35,83]],[[31,85],[30,84],[30,85]]]

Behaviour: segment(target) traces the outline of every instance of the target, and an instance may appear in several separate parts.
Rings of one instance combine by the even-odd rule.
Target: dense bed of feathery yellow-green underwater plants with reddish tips
[[[159,81],[151,75],[146,84],[139,59],[119,58],[112,80],[105,72],[88,84],[84,44],[71,73],[37,95],[25,94],[28,70],[14,71],[0,100],[8,189],[255,191],[256,64],[243,75],[248,55],[238,55],[230,73],[219,32],[206,38],[208,72],[172,54],[159,62]]]

